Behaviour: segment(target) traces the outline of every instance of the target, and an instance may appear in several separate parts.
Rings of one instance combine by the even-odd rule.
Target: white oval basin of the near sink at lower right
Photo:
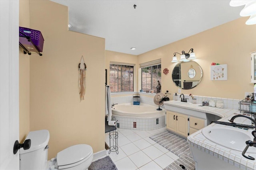
[[[209,141],[241,152],[246,147],[246,141],[253,141],[251,133],[246,134],[246,132],[247,130],[237,130],[236,127],[205,127],[202,129],[202,134]],[[256,148],[249,147],[246,153],[256,153]]]

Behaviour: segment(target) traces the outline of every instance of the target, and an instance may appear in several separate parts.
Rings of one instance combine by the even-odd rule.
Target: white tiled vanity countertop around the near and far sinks
[[[192,104],[192,105],[185,106],[185,105],[176,105],[168,102],[165,102],[165,103],[168,104],[169,106],[175,106],[175,107],[180,107],[180,108],[185,108],[185,109],[190,109],[195,111],[201,111],[204,113],[210,113],[213,115],[218,115],[222,117],[219,121],[226,121],[226,122],[229,122],[228,120],[237,114],[250,115],[249,113],[244,113],[244,111],[240,113],[238,109],[231,109],[231,108],[220,109],[220,108],[209,107],[209,106],[200,107],[199,106],[200,104]],[[247,125],[250,125],[251,123],[249,119],[245,119],[243,117],[236,118],[234,122],[247,124]],[[212,123],[208,126],[215,126],[215,127],[221,127],[221,128],[230,127],[230,126],[220,125],[215,123]],[[249,130],[244,130],[239,128],[236,128],[236,129],[238,131],[242,131],[248,134],[249,136],[252,136],[251,132],[253,131],[253,129],[249,129]],[[202,129],[188,136],[187,141],[190,144],[190,148],[192,152],[194,151],[193,152],[194,159],[198,159],[198,162],[199,162],[198,164],[196,164],[196,170],[199,169],[198,165],[199,166],[202,165],[204,166],[204,169],[208,169],[208,170],[215,170],[217,168],[217,165],[222,166],[221,169],[225,169],[225,170],[238,170],[238,169],[255,170],[256,169],[256,160],[246,159],[244,158],[244,156],[242,156],[242,152],[240,151],[228,149],[226,147],[222,147],[216,143],[209,141],[204,137],[204,135],[202,135]],[[244,147],[246,147],[245,141],[244,141]],[[253,149],[256,149],[256,148],[254,147]],[[195,152],[199,154],[195,154]],[[202,158],[200,159],[200,156],[198,155],[201,155],[203,159]],[[250,155],[256,158],[256,154],[254,153],[246,153],[246,155]]]

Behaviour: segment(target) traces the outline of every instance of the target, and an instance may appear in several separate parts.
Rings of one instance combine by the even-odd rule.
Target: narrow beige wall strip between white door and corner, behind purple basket
[[[30,27],[29,0],[20,0],[20,27]],[[20,143],[30,131],[30,76],[29,55],[20,48],[19,54],[19,102],[20,102]]]

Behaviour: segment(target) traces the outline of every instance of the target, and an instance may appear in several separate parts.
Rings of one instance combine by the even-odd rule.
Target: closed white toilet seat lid
[[[68,147],[57,154],[57,165],[64,166],[84,160],[92,154],[92,147],[86,144]]]

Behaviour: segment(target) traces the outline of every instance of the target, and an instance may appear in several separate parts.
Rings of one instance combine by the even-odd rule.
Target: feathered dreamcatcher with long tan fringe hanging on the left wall
[[[81,101],[81,100],[84,100],[85,89],[86,89],[86,81],[85,81],[86,64],[84,62],[83,56],[81,57],[80,63],[78,64],[78,71],[79,71],[78,86],[79,86],[79,94],[80,94],[80,101]]]

